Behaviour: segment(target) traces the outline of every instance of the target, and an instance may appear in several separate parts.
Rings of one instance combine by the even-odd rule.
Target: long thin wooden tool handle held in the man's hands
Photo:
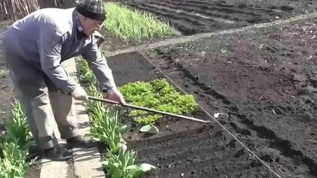
[[[143,110],[143,111],[150,111],[150,112],[154,112],[154,113],[159,113],[159,114],[168,115],[168,116],[174,116],[174,117],[183,118],[183,119],[189,119],[189,120],[192,120],[192,121],[197,121],[197,122],[202,122],[202,123],[210,123],[210,121],[205,121],[205,120],[192,118],[192,117],[188,117],[188,116],[173,114],[173,113],[170,113],[170,112],[158,111],[158,110],[154,110],[154,109],[150,109],[150,108],[145,108],[145,107],[135,106],[135,105],[129,105],[129,104],[120,104],[119,102],[112,101],[112,100],[109,100],[109,99],[100,99],[100,98],[96,98],[96,97],[92,97],[92,96],[88,96],[88,99],[92,99],[92,100],[96,100],[96,101],[102,101],[102,102],[106,102],[106,103],[111,103],[111,104],[114,104],[114,105],[122,105],[122,106],[130,107],[130,108],[133,108],[133,109],[138,109],[138,110]]]

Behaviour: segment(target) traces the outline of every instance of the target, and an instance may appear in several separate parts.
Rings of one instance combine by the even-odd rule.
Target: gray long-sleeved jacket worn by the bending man
[[[98,32],[86,36],[81,30],[75,8],[41,9],[11,25],[3,36],[3,48],[42,69],[65,93],[74,90],[76,84],[61,62],[78,55],[89,63],[100,90],[115,87],[112,71],[99,49],[102,36]]]

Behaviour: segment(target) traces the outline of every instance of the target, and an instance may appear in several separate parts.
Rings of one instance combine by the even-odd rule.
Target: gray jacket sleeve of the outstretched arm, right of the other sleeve
[[[92,43],[86,48],[82,56],[94,72],[99,82],[100,90],[106,92],[109,89],[116,88],[116,85],[113,79],[112,70],[109,68],[106,58],[99,49],[102,41],[102,37],[93,35]]]

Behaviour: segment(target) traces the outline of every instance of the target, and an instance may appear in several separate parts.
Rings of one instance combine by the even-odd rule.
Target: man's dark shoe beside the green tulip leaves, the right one
[[[93,148],[97,146],[97,143],[92,142],[88,136],[78,135],[72,138],[68,138],[67,140],[67,147],[74,148],[74,147],[81,147],[81,148]]]

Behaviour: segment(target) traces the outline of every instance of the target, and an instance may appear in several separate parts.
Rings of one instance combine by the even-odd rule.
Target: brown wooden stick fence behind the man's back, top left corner
[[[47,7],[70,8],[79,0],[0,0],[0,20],[17,20]]]

